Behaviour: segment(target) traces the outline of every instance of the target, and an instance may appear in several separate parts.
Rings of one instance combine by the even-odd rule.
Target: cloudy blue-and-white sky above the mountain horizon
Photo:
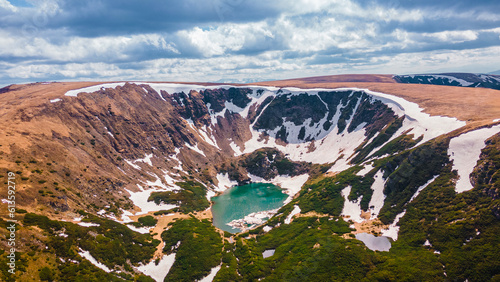
[[[500,69],[498,0],[0,0],[0,86]]]

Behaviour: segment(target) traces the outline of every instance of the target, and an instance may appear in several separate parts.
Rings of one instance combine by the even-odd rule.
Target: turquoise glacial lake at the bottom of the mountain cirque
[[[214,225],[224,231],[238,233],[241,230],[227,223],[261,211],[283,206],[288,195],[283,189],[269,183],[251,183],[234,186],[221,195],[213,197],[212,215]]]

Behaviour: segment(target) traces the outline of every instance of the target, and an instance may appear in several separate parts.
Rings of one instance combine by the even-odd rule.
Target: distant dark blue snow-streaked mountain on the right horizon
[[[442,73],[395,75],[394,80],[399,83],[482,87],[500,90],[500,76],[494,74]]]

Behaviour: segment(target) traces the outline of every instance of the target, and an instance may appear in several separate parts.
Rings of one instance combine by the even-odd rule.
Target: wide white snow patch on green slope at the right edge
[[[459,179],[455,191],[461,193],[472,188],[469,176],[474,170],[481,150],[486,146],[484,141],[500,132],[500,125],[481,128],[464,133],[450,140],[448,155],[453,161],[453,169],[458,171]]]

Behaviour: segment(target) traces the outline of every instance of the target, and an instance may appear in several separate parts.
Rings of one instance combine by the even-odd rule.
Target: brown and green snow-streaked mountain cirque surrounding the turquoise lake
[[[44,273],[64,279],[89,259],[88,251],[94,264],[72,272],[81,279],[85,269],[99,268],[96,261],[107,267],[96,273],[108,280],[158,277],[151,273],[159,267],[148,264],[153,258],[168,265],[166,280],[201,279],[211,271],[221,281],[499,274],[497,91],[347,80],[264,83],[315,89],[146,82],[4,88],[0,164],[4,175],[16,173],[22,265],[36,268],[46,256]],[[339,88],[344,83],[350,87]],[[361,88],[369,85],[399,90],[391,91],[399,97]],[[455,97],[429,98],[438,90]],[[473,112],[487,99],[489,107]],[[424,112],[415,101],[433,106]],[[477,152],[460,149],[468,142],[479,144]],[[457,189],[471,172],[470,188]],[[243,234],[214,229],[210,196],[257,180],[281,183],[287,204]],[[145,223],[155,226],[151,235],[140,234],[150,233]],[[121,242],[103,226],[132,239]],[[44,237],[30,242],[39,230]],[[363,232],[397,241],[389,252],[373,252],[351,239]],[[62,238],[71,239],[64,250],[57,247]],[[115,244],[116,252],[133,254],[137,242],[148,248],[128,261],[101,249]],[[194,249],[199,256],[188,255]],[[263,258],[271,249],[273,257]],[[188,273],[186,265],[196,269]],[[20,269],[18,278],[34,279]]]

